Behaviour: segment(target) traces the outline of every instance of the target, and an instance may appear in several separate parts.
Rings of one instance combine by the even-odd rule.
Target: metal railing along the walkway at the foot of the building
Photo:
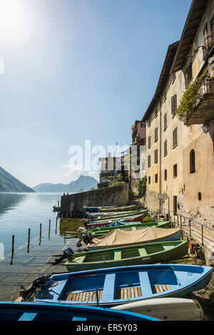
[[[153,215],[154,211],[149,211],[148,215]],[[189,237],[198,237],[197,232],[200,234],[201,244],[203,245],[204,238],[208,239],[210,242],[214,242],[214,237],[211,239],[207,235],[204,234],[204,229],[208,229],[210,232],[214,232],[213,228],[207,227],[206,225],[203,225],[200,222],[197,222],[193,220],[190,217],[185,217],[184,215],[180,215],[178,213],[175,213],[171,210],[168,210],[166,208],[163,208],[163,212],[155,212],[156,214],[155,219],[160,220],[161,216],[165,218],[166,221],[171,222],[172,227],[179,227],[180,229],[185,229],[188,232]],[[193,225],[199,225],[200,230],[193,227]],[[195,228],[195,230],[193,229]]]

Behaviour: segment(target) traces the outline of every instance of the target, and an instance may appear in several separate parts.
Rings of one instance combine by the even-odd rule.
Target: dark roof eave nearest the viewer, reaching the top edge
[[[183,68],[186,60],[185,56],[187,56],[190,51],[190,46],[195,38],[195,33],[198,31],[207,4],[208,0],[192,1],[170,73],[179,71]]]

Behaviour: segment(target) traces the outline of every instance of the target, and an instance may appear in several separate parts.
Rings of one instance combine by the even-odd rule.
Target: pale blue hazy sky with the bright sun
[[[2,168],[29,186],[97,177],[66,168],[69,148],[131,144],[190,3],[0,0]]]

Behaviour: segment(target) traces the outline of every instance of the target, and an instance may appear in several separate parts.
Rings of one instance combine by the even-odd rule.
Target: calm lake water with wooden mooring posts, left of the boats
[[[66,272],[65,267],[58,269],[59,266],[49,264],[55,255],[62,254],[63,247],[76,241],[66,239],[59,218],[56,225],[53,206],[57,206],[58,200],[59,193],[0,193],[0,300],[16,299],[20,285],[29,284],[37,274]]]

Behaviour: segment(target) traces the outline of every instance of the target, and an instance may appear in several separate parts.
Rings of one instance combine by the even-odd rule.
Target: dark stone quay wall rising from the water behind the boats
[[[61,212],[82,213],[83,206],[125,206],[129,204],[128,183],[112,187],[103,187],[98,190],[63,195],[61,197]]]

